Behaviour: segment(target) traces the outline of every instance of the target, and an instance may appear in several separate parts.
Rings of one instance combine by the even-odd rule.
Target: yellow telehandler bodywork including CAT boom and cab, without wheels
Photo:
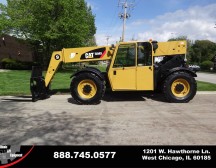
[[[148,44],[149,63],[138,62],[138,52],[142,46],[139,43]],[[113,91],[130,90],[154,90],[154,57],[172,56],[186,54],[186,41],[158,42],[158,49],[154,51],[151,42],[121,42],[115,47],[81,47],[67,48],[62,51],[55,51],[52,54],[49,67],[45,76],[45,85],[48,86],[53,78],[60,62],[89,62],[110,60],[108,68],[108,77]],[[119,50],[124,48],[134,53],[133,65],[116,65],[115,61],[119,56]],[[142,48],[143,49],[143,48]],[[145,50],[145,47],[144,47]],[[120,56],[120,59],[121,56]]]

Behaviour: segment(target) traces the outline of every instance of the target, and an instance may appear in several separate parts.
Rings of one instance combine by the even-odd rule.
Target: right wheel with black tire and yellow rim
[[[197,83],[194,77],[186,72],[175,72],[163,83],[163,93],[169,102],[187,103],[196,95]]]

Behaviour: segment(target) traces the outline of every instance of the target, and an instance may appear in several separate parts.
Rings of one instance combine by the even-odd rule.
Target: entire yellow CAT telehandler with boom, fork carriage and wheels
[[[186,65],[186,49],[186,41],[150,40],[54,51],[45,78],[41,68],[32,67],[32,101],[49,97],[49,86],[60,63],[108,61],[105,73],[85,67],[72,74],[70,92],[76,102],[99,103],[106,85],[112,91],[161,90],[168,102],[189,102],[196,94],[197,75]]]

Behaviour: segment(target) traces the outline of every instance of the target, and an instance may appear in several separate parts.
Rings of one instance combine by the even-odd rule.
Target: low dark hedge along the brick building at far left
[[[35,62],[21,62],[11,58],[4,58],[1,61],[3,69],[31,70],[32,66],[38,65]]]

